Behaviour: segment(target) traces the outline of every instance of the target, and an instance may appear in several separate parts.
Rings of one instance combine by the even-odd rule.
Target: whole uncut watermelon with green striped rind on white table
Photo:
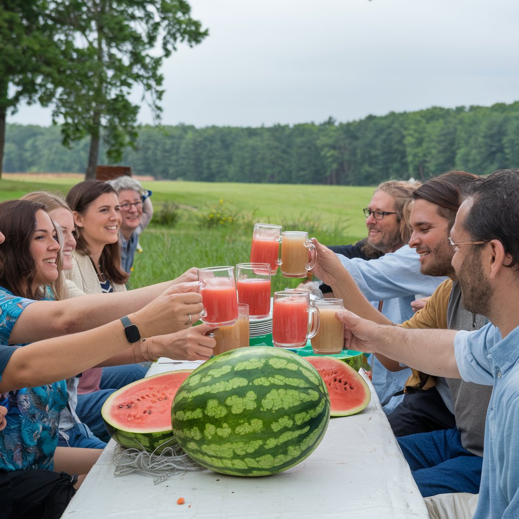
[[[330,398],[313,366],[281,348],[231,350],[187,377],[172,407],[177,442],[200,465],[238,476],[287,470],[321,442]]]

